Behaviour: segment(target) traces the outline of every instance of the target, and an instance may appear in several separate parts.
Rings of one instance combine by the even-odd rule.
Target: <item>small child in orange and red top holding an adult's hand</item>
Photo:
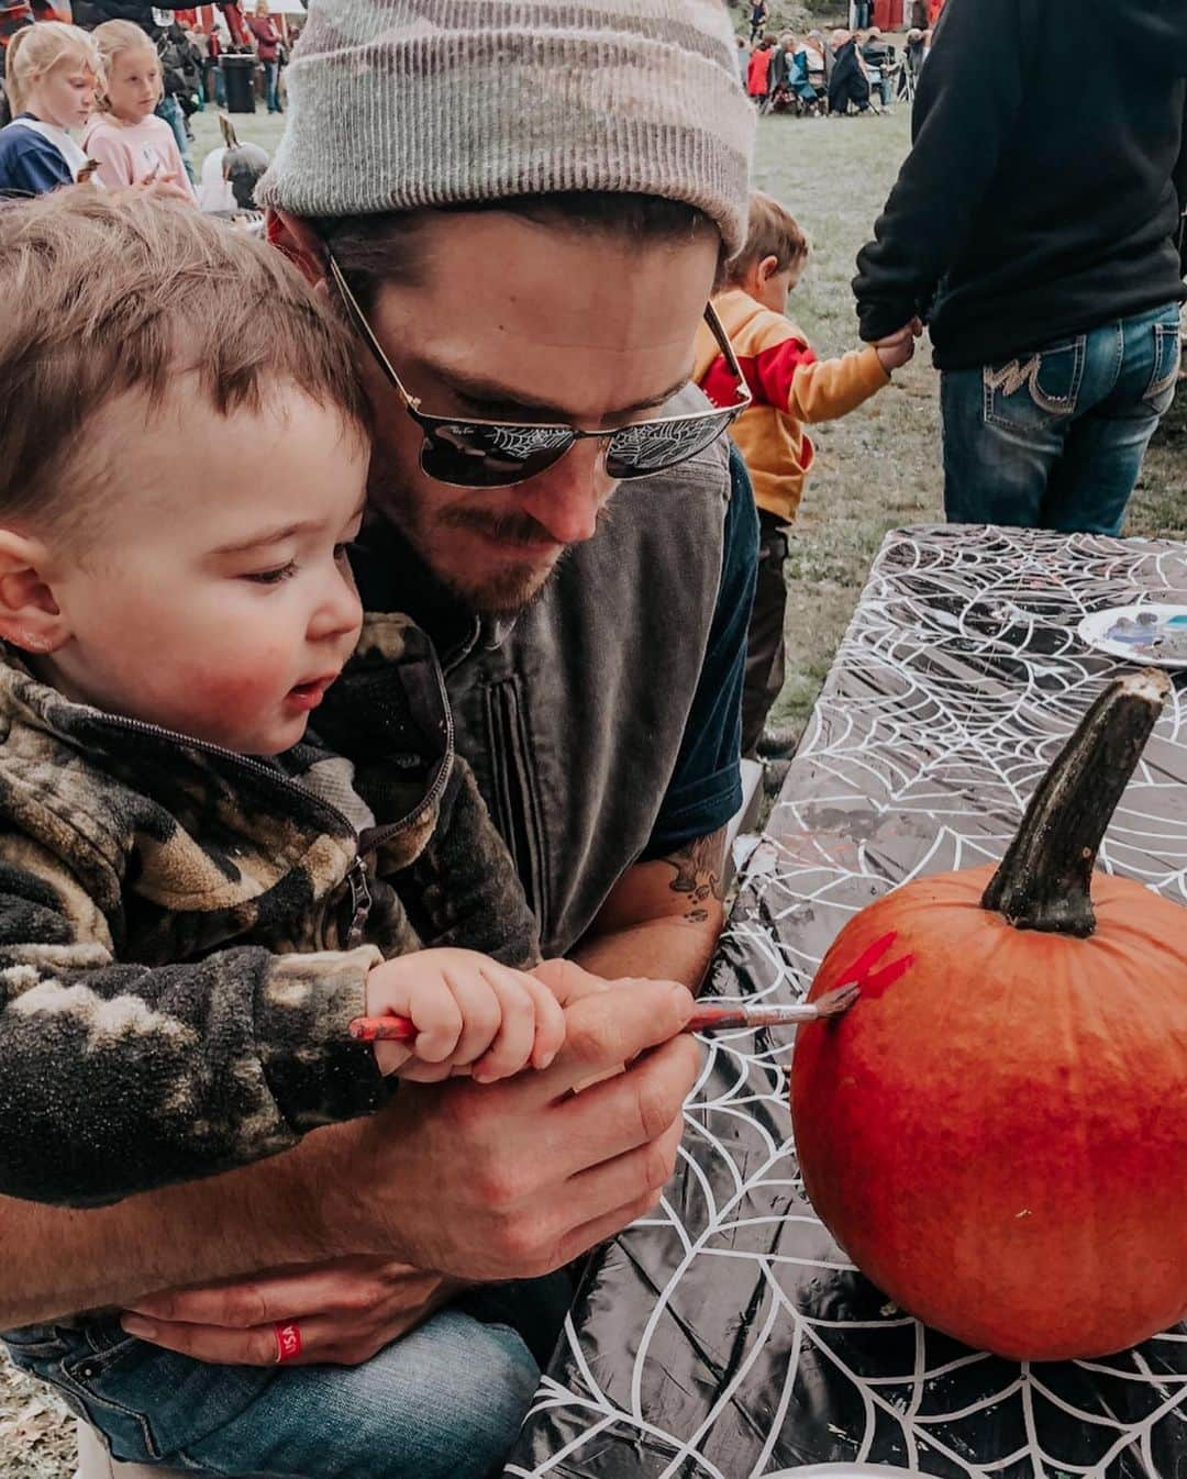
[[[789,211],[755,192],[746,246],[728,265],[725,290],[713,299],[753,395],[731,435],[750,472],[762,525],[742,700],[744,756],[755,753],[783,688],[786,525],[795,519],[814,456],[804,423],[847,416],[890,385],[891,370],[915,353],[915,337],[903,330],[839,359],[817,359],[786,317],[787,294],[807,260],[808,241]],[[706,327],[697,336],[693,376],[710,401],[728,405],[734,399],[730,367]]]

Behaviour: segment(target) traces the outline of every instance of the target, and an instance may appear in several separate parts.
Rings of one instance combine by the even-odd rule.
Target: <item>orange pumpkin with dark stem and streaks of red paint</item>
[[[1187,913],[1092,873],[1168,686],[1097,701],[996,873],[863,910],[810,998],[854,975],[861,997],[796,1037],[821,1220],[901,1309],[1015,1359],[1187,1315]]]

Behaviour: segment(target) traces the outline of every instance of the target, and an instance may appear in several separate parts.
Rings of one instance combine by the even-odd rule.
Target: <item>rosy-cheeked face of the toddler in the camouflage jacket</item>
[[[369,453],[295,387],[219,416],[188,377],[120,401],[89,544],[43,571],[70,632],[38,670],[68,697],[244,754],[296,744],[358,637],[346,559]]]

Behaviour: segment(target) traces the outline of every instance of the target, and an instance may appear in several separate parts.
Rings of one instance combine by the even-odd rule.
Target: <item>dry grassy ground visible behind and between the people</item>
[[[198,158],[218,142],[195,120]],[[274,148],[280,120],[238,118],[241,139]],[[793,317],[820,355],[857,342],[854,256],[907,149],[904,109],[884,118],[764,118],[756,183],[808,229],[813,263]],[[882,535],[940,519],[937,379],[924,349],[898,383],[844,422],[817,429],[818,457],[787,566],[787,685],[773,719],[802,726],[829,670]],[[1131,534],[1187,538],[1187,395],[1151,448],[1131,506]],[[0,1364],[0,1476],[68,1479],[73,1423],[50,1393]]]

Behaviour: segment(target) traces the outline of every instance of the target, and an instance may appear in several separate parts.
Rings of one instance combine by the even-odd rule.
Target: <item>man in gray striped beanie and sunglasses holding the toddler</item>
[[[18,1319],[41,1318],[37,1299],[127,1303],[136,1266],[112,1250],[144,1257],[149,1231],[155,1288],[289,1266],[139,1302],[148,1338],[235,1365],[244,1404],[274,1327],[299,1330],[300,1362],[360,1373],[330,1412],[326,1383],[286,1405],[300,1373],[272,1368],[266,1461],[243,1415],[225,1439],[181,1441],[212,1472],[488,1472],[522,1399],[480,1401],[490,1373],[453,1371],[450,1429],[419,1409],[420,1383],[407,1421],[438,1423],[440,1467],[423,1448],[406,1463],[400,1337],[457,1281],[531,1279],[480,1318],[518,1328],[519,1375],[543,1364],[558,1285],[539,1275],[653,1208],[672,1173],[699,1068],[685,988],[721,927],[740,805],[758,547],[724,435],[742,371],[724,407],[687,385],[746,229],[753,109],[734,53],[722,0],[309,3],[256,198],[355,330],[376,422],[363,599],[437,643],[568,1043],[506,1084],[401,1089],[373,1120],[235,1173],[234,1207],[219,1183],[151,1194],[105,1208],[90,1239],[56,1228],[53,1260],[22,1266],[40,1293]],[[411,1337],[428,1362],[434,1327]],[[192,1423],[209,1415],[195,1405]]]

